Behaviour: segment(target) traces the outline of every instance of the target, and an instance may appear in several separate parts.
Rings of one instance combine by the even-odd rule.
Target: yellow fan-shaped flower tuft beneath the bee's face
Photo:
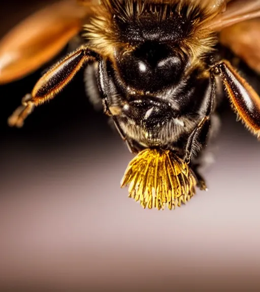
[[[196,178],[189,166],[169,150],[146,149],[128,165],[121,188],[146,208],[181,206],[195,194]]]

